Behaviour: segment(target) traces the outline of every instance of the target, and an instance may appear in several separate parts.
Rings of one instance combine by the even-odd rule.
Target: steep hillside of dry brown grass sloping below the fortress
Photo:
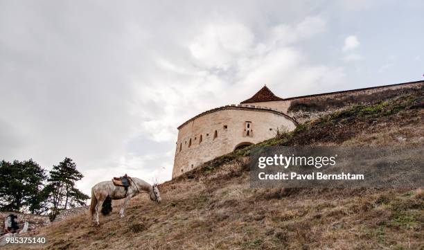
[[[160,205],[141,195],[123,219],[116,202],[99,228],[78,215],[42,229],[42,248],[423,249],[421,188],[252,189],[247,169],[270,145],[423,145],[423,96],[355,105],[219,157],[162,184]]]

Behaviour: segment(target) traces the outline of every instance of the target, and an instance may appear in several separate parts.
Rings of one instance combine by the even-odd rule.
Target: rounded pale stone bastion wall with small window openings
[[[251,122],[249,136],[245,134],[247,121]],[[290,118],[267,109],[224,107],[206,111],[179,127],[173,178],[215,157],[232,152],[240,143],[259,143],[270,139],[275,136],[276,129],[282,126],[290,131],[296,127]],[[214,139],[215,131],[217,136]]]

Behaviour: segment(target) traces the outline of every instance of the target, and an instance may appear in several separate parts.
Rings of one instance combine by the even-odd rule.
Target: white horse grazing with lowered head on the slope
[[[152,201],[161,203],[161,195],[156,185],[150,185],[146,181],[139,178],[131,178],[131,185],[127,191],[123,186],[115,186],[112,181],[102,181],[91,188],[91,222],[98,226],[98,212],[101,209],[103,215],[107,215],[112,211],[112,199],[125,199],[119,215],[124,217],[125,206],[130,199],[139,193],[148,193]]]

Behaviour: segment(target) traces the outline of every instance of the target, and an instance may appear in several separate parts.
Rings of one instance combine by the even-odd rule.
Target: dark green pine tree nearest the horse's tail
[[[46,186],[49,201],[52,204],[53,217],[62,209],[84,206],[89,196],[75,187],[76,181],[84,177],[77,169],[76,163],[66,157],[58,166],[53,166]]]

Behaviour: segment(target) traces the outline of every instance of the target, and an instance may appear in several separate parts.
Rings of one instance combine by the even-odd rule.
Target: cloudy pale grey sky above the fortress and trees
[[[423,80],[423,1],[0,1],[0,159],[78,188],[171,178],[177,127],[264,84],[288,98]]]

